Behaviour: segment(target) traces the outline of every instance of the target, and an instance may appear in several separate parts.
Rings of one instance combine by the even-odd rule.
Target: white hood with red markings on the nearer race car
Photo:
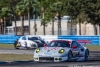
[[[64,53],[59,53],[59,51],[61,49],[64,49]],[[36,50],[34,52],[34,55],[35,56],[65,56],[67,55],[68,51],[70,50],[70,48],[67,48],[67,47],[41,47],[40,48],[40,52],[39,53],[36,53]]]

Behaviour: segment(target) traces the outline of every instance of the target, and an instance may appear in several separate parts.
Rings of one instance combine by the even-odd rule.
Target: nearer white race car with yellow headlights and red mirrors
[[[52,40],[34,51],[36,62],[87,61],[88,48],[74,40]]]

